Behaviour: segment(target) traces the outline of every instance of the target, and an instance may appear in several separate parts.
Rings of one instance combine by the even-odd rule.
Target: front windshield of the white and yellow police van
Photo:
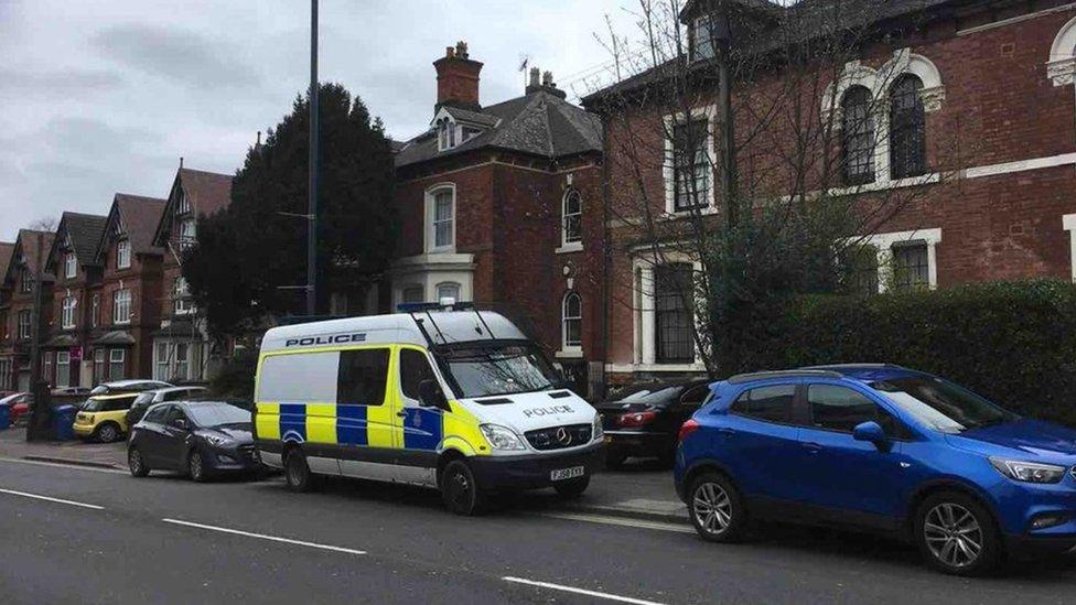
[[[437,357],[464,398],[544,391],[561,381],[532,345],[451,348]]]

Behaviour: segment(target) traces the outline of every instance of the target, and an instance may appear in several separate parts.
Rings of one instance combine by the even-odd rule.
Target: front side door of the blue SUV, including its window
[[[897,436],[900,421],[867,393],[844,386],[810,383],[805,399],[809,421],[800,431],[798,460],[807,503],[852,522],[873,525],[900,516],[906,476],[902,443],[879,449],[852,437],[856,425],[869,421]]]

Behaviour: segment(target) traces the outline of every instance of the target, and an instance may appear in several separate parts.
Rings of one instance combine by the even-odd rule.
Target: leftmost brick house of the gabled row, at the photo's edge
[[[34,328],[34,277],[52,247],[53,234],[21,229],[0,289],[0,390],[30,390],[30,339]],[[44,274],[39,329],[51,321],[52,277]]]

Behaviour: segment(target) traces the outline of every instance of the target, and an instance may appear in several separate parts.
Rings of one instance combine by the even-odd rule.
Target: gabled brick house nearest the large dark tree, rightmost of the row
[[[212,344],[183,279],[184,250],[196,241],[198,220],[232,201],[232,176],[180,168],[153,234],[163,251],[161,322],[153,333],[153,372],[158,380],[205,381],[212,368]],[[149,376],[149,375],[147,375]]]

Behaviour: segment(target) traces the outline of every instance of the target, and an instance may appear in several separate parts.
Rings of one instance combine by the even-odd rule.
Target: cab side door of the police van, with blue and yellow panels
[[[399,401],[397,425],[401,441],[396,479],[400,483],[435,483],[437,453],[444,439],[444,411],[422,407],[419,385],[435,380],[430,359],[422,349],[399,349]]]

